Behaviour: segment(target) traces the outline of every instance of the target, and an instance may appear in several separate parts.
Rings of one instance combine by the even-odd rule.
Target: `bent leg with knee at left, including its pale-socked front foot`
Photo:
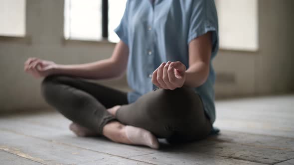
[[[121,124],[107,111],[128,103],[125,92],[68,76],[46,77],[41,89],[47,103],[73,121],[69,129],[77,136],[104,135],[118,143],[159,147],[149,131]]]

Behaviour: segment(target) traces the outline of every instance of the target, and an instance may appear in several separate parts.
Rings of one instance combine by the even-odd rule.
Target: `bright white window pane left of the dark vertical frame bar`
[[[102,39],[102,0],[64,1],[64,38]]]

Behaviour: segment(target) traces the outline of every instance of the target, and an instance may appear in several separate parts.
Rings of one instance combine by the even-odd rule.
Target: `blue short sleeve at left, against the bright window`
[[[129,0],[126,3],[126,9],[124,12],[124,15],[121,19],[121,22],[119,26],[114,30],[115,33],[119,36],[119,38],[128,45],[128,7],[129,6]]]

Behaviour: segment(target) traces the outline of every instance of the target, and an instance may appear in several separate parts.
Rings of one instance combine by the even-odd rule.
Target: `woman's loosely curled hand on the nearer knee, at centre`
[[[186,67],[181,62],[162,63],[152,74],[152,83],[159,88],[173,90],[182,87],[186,79]]]

